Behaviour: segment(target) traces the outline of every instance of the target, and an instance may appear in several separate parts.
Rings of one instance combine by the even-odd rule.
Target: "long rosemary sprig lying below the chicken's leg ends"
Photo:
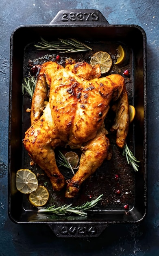
[[[52,205],[48,208],[42,208],[38,210],[38,213],[53,213],[57,215],[65,215],[67,213],[74,213],[79,216],[87,217],[86,211],[91,209],[92,207],[95,207],[96,204],[101,200],[102,194],[98,196],[95,200],[92,200],[91,202],[86,202],[85,204],[82,204],[81,206],[72,207],[72,204],[64,204],[60,207],[55,207],[55,205]]]

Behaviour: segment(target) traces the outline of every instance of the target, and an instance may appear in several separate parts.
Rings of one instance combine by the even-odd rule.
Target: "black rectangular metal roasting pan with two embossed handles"
[[[30,126],[31,99],[22,94],[22,83],[26,76],[28,61],[47,61],[52,52],[35,49],[34,44],[44,38],[47,41],[58,38],[76,38],[91,45],[94,52],[106,51],[115,58],[118,45],[126,50],[125,61],[113,72],[123,75],[129,70],[129,78],[124,76],[129,97],[129,105],[135,106],[135,119],[129,126],[127,144],[136,159],[139,171],[135,172],[115,144],[115,135],[110,133],[113,157],[82,185],[74,198],[64,197],[64,192],[54,192],[48,177],[39,166],[30,166],[30,157],[24,149],[24,132]],[[68,54],[77,60],[89,60],[89,52]],[[11,35],[10,55],[10,108],[9,108],[9,217],[18,224],[43,223],[48,225],[58,237],[97,237],[109,224],[137,223],[146,216],[146,34],[137,25],[110,25],[98,10],[61,10],[49,25],[24,25],[17,27]],[[80,205],[103,194],[96,207],[89,210],[86,217],[57,216],[37,213],[25,194],[17,191],[15,174],[20,168],[38,173],[39,184],[47,184],[50,192],[49,205]],[[119,179],[115,179],[115,175]],[[120,190],[120,194],[115,193]],[[124,205],[128,204],[129,209]]]

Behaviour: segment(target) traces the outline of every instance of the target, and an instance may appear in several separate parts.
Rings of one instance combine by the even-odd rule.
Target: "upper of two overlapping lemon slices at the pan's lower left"
[[[28,169],[20,169],[15,176],[17,190],[29,194],[37,189],[38,181],[35,173]]]

